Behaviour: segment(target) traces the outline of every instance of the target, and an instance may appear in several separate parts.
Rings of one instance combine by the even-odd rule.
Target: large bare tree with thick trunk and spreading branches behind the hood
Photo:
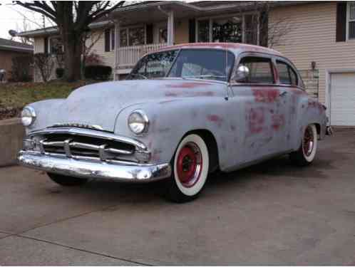
[[[68,81],[81,78],[83,34],[90,23],[107,16],[122,6],[124,1],[16,1],[24,8],[43,14],[58,26],[64,46],[65,78]]]

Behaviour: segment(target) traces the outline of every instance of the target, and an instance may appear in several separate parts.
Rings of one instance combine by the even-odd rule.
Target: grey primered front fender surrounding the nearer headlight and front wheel
[[[144,135],[134,135],[128,128],[128,116],[133,110],[144,110],[149,129]],[[133,137],[147,145],[152,162],[166,163],[173,158],[182,137],[193,130],[208,130],[217,142],[220,162],[227,155],[229,125],[224,98],[184,98],[155,103],[131,105],[121,110],[115,123],[115,134]]]

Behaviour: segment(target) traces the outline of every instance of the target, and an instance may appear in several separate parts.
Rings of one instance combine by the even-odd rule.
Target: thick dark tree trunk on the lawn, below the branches
[[[68,82],[73,82],[81,79],[81,36],[72,31],[71,33],[63,34],[64,43],[64,75]]]

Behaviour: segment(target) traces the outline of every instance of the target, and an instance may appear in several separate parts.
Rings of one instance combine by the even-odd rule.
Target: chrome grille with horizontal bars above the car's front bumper
[[[150,156],[145,146],[136,140],[97,130],[48,128],[33,132],[29,137],[36,140],[40,152],[46,155],[97,159],[107,162],[112,160],[142,161],[136,159],[136,152],[139,152],[139,155],[147,155],[146,160]]]

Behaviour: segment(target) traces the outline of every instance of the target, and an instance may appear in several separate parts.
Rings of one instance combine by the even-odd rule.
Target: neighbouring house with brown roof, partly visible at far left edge
[[[34,47],[29,44],[0,38],[0,70],[6,70],[3,80],[11,80],[13,78],[14,58],[29,59],[33,53]]]

